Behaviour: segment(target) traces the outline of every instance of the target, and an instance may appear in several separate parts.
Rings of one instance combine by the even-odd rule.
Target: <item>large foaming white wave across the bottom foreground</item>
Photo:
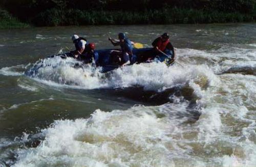
[[[13,166],[254,164],[256,145],[244,137],[253,135],[255,123],[241,135],[229,136],[222,129],[222,108],[206,107],[202,115],[196,115],[188,105],[187,101],[177,101],[112,112],[96,110],[90,118],[55,121],[41,130],[44,137],[37,147],[17,151]]]

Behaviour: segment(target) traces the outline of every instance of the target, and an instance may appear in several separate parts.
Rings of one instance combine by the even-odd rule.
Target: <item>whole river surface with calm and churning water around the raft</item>
[[[44,59],[119,32],[169,32],[184,67]],[[255,23],[0,30],[0,166],[256,166],[255,75]]]

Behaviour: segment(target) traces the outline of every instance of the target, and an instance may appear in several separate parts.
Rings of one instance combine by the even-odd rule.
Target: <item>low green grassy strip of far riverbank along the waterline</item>
[[[27,23],[20,22],[8,12],[0,11],[0,28],[26,28]],[[29,20],[33,26],[87,26],[87,25],[147,25],[181,23],[228,23],[253,22],[255,13],[220,12],[196,9],[162,9],[135,11],[83,11],[77,9],[49,9]]]

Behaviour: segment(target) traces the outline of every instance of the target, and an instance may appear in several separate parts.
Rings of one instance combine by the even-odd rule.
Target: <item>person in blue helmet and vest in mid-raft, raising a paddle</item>
[[[118,34],[119,41],[115,42],[114,39],[109,37],[109,40],[114,46],[121,46],[121,51],[111,51],[111,62],[121,66],[131,64],[131,57],[133,56],[133,42],[126,37],[124,33]]]

